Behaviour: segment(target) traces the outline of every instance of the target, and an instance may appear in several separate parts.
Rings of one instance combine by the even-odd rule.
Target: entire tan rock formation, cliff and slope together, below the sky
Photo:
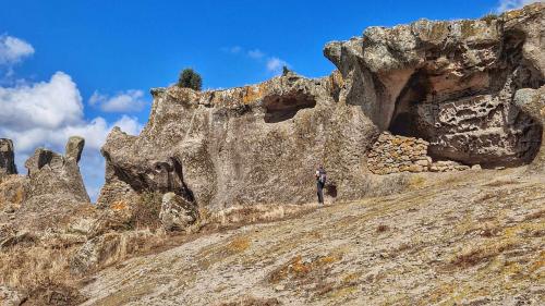
[[[543,13],[372,27],[326,46],[323,78],[155,88],[141,135],[102,147],[98,206],[83,138],[26,175],[0,142],[0,301],[538,305]],[[318,162],[326,203],[354,200],[286,205]]]

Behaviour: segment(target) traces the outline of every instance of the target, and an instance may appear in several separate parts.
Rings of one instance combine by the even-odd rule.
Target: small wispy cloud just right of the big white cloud
[[[98,106],[105,112],[134,112],[141,111],[146,101],[144,91],[130,89],[112,97],[95,91],[89,98],[89,105]]]

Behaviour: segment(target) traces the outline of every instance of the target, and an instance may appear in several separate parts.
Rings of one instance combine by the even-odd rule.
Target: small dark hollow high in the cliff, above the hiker
[[[263,106],[265,108],[265,122],[277,123],[292,119],[302,109],[314,108],[316,100],[306,94],[274,95],[265,97]]]

